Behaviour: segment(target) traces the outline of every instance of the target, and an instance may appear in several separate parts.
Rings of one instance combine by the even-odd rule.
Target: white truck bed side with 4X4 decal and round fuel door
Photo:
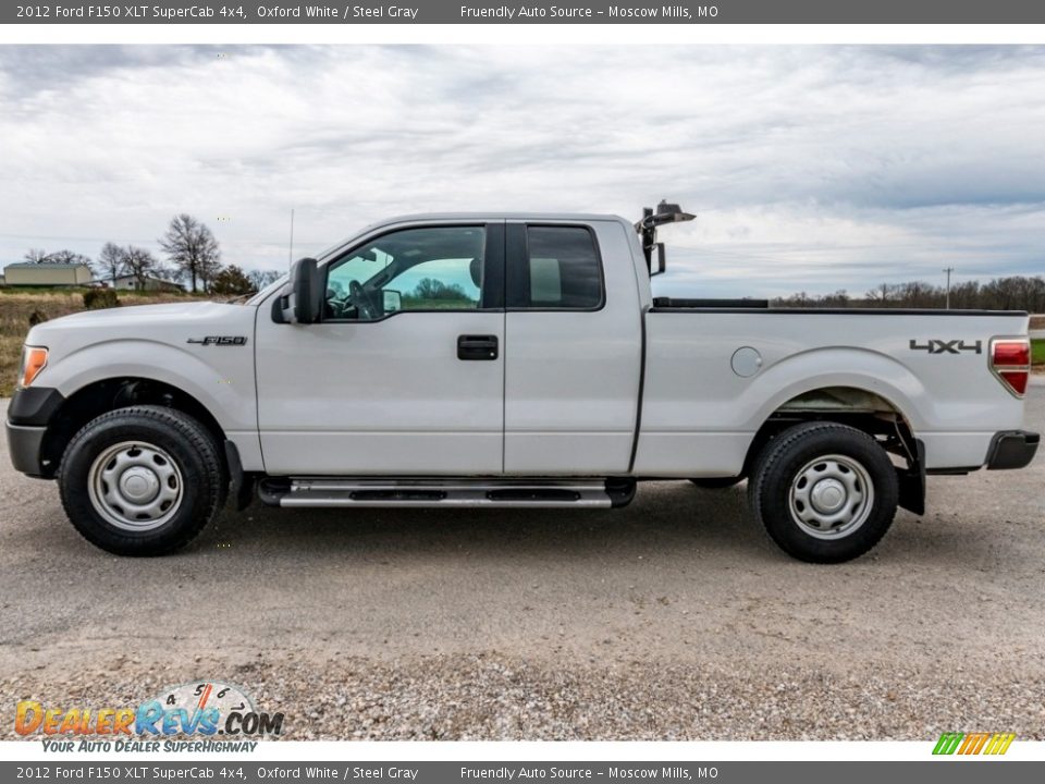
[[[647,311],[638,475],[740,473],[765,419],[820,389],[888,401],[925,444],[929,469],[979,467],[994,432],[1022,426],[1022,402],[988,358],[992,338],[1026,334],[1026,314],[684,302]],[[964,348],[933,351],[951,341]]]

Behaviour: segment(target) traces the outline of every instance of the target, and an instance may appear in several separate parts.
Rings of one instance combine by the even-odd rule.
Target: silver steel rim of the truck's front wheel
[[[95,457],[87,475],[90,503],[106,522],[130,531],[159,528],[184,498],[171,455],[144,441],[121,441]]]

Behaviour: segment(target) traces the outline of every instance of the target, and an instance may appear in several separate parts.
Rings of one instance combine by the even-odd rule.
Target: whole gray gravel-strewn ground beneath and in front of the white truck
[[[924,518],[834,567],[684,482],[612,513],[251,509],[128,560],[0,451],[0,705],[213,678],[298,739],[1045,739],[1043,487],[1042,457],[931,478]]]

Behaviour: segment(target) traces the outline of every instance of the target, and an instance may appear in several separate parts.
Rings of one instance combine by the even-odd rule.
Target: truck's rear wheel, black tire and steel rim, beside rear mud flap
[[[837,501],[837,513],[851,516],[849,529],[827,527],[834,512],[822,514],[812,500],[820,485],[816,474],[829,479],[831,471],[840,477],[836,486],[852,482],[848,489],[828,490],[833,495],[821,497],[831,503],[845,499]],[[868,483],[870,492],[861,490]],[[810,505],[799,497],[809,499]],[[810,563],[841,563],[868,552],[893,524],[898,503],[896,469],[886,451],[865,432],[834,422],[806,422],[763,448],[748,482],[748,499],[766,534],[784,552]],[[820,519],[803,522],[802,515]],[[817,523],[825,528],[817,528],[817,535],[808,532]]]

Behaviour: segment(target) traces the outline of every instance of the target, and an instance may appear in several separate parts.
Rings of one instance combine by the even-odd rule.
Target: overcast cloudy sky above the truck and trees
[[[382,217],[699,218],[664,293],[1045,274],[1045,48],[0,47],[0,264],[158,250],[175,212],[283,269]]]

